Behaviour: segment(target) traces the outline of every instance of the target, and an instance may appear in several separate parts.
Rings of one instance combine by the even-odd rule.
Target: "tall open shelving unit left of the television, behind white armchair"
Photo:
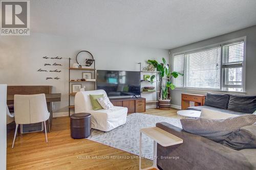
[[[71,109],[74,109],[75,108],[75,106],[74,105],[71,105],[71,103],[70,103],[70,98],[74,98],[74,96],[76,95],[76,93],[72,93],[72,90],[71,90],[71,83],[72,82],[79,82],[79,83],[86,83],[86,82],[88,82],[88,83],[94,83],[94,85],[93,85],[93,87],[94,87],[94,90],[95,90],[95,83],[96,83],[96,81],[77,81],[77,80],[75,80],[75,81],[71,81],[71,79],[70,79],[70,74],[71,74],[71,70],[77,70],[77,71],[79,71],[79,70],[82,70],[82,71],[84,71],[84,70],[87,70],[87,71],[93,71],[93,79],[96,79],[96,69],[95,69],[95,60],[93,60],[93,68],[73,68],[73,67],[71,67],[71,58],[69,58],[69,116],[70,116],[70,110]]]

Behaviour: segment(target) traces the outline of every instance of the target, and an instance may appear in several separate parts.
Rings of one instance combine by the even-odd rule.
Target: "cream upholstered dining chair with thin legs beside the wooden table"
[[[35,124],[44,122],[46,142],[46,120],[49,119],[50,113],[47,109],[45,94],[32,94],[32,95],[14,95],[14,113],[16,129],[13,138],[12,148],[14,146],[17,130],[19,125]],[[49,122],[49,121],[48,121]],[[49,128],[50,129],[50,128]]]

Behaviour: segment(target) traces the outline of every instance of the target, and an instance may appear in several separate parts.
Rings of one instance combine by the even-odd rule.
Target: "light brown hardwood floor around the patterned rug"
[[[177,117],[176,112],[147,109],[145,114]],[[69,117],[53,119],[48,143],[44,133],[29,133],[17,136],[12,149],[13,135],[13,131],[7,134],[7,169],[139,169],[136,155],[88,139],[72,139]],[[117,159],[120,156],[123,159]],[[152,164],[148,159],[142,162],[142,167]]]

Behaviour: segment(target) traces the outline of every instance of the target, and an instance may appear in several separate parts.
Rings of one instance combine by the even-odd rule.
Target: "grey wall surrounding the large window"
[[[256,26],[249,27],[243,30],[232,32],[229,34],[221,35],[218,37],[210,38],[200,42],[184,45],[181,47],[174,48],[171,51],[172,54],[184,52],[187,50],[192,50],[195,48],[215,44],[218,42],[223,42],[231,40],[234,38],[239,38],[246,36],[246,82],[245,82],[245,91],[246,93],[240,93],[242,95],[256,95]],[[171,55],[172,56],[172,55]],[[172,57],[170,57],[172,61]],[[172,62],[171,62],[172,63]],[[206,94],[205,90],[181,90],[175,89],[172,90],[172,104],[175,106],[181,106],[181,93],[196,93],[196,94]],[[216,92],[216,91],[215,91]],[[218,92],[218,91],[217,91]],[[220,91],[219,91],[220,93]],[[226,92],[225,92],[226,93]],[[232,92],[230,92],[232,93]]]

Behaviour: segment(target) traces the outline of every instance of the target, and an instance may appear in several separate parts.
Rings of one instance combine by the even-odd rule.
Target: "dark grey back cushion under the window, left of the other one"
[[[205,96],[205,106],[227,109],[229,94],[207,93]]]

